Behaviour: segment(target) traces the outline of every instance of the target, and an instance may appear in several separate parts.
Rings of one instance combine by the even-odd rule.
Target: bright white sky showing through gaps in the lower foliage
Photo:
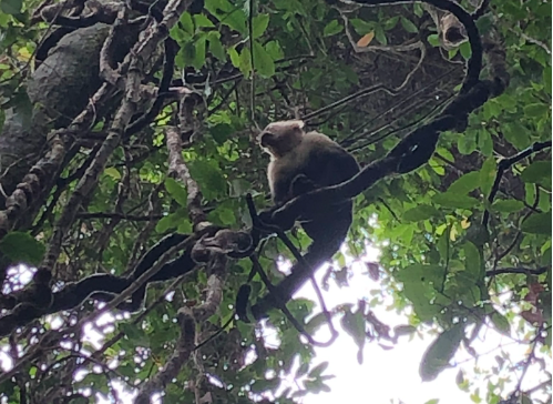
[[[380,292],[381,290],[379,282],[370,280],[367,275],[365,265],[354,263],[347,255],[346,259],[349,260],[348,266],[352,269],[352,276],[349,279],[349,287],[340,289],[330,280],[329,290],[321,290],[326,305],[329,309],[342,303],[357,304],[359,299],[370,297],[371,291]],[[377,261],[378,250],[368,248],[365,259],[368,261]],[[19,270],[21,282],[29,282],[30,271]],[[324,270],[318,271],[318,284],[321,284],[320,281],[324,273]],[[316,302],[315,313],[319,312],[317,299],[310,283],[307,283],[296,294],[296,297],[313,300]],[[388,300],[388,303],[390,303],[391,297]],[[395,312],[387,311],[385,305],[379,305],[378,307],[372,309],[372,311],[380,321],[390,327],[407,324],[406,317],[402,317]],[[113,320],[111,314],[104,314],[98,319],[96,325],[102,326],[103,324],[105,326],[105,324],[112,323]],[[55,321],[55,319],[52,322],[53,327],[61,325],[61,322]],[[432,382],[422,383],[420,381],[418,370],[419,363],[423,352],[432,342],[433,336],[426,335],[423,339],[420,339],[417,335],[412,339],[410,336],[401,336],[391,350],[383,350],[376,342],[367,342],[363,350],[365,361],[362,365],[359,365],[357,362],[357,345],[351,337],[341,330],[338,319],[335,319],[335,326],[340,335],[331,346],[315,349],[317,356],[311,366],[315,367],[317,364],[325,361],[329,362],[329,366],[324,372],[324,375],[331,374],[336,376],[332,380],[326,381],[330,386],[331,392],[309,394],[303,398],[303,404],[335,404],[340,400],[348,400],[348,402],[352,401],[356,404],[424,404],[432,398],[439,398],[439,402],[433,402],[432,404],[472,403],[469,394],[462,392],[455,384],[455,375],[459,372],[459,367],[442,372],[439,377]],[[85,340],[100,349],[103,343],[103,335],[98,332],[98,329],[94,329],[95,327],[92,327],[91,324],[85,325]],[[321,327],[314,337],[317,341],[328,341],[328,329],[326,326]],[[270,343],[270,330],[267,330],[266,340]],[[391,346],[391,343],[386,344]],[[489,370],[493,365],[496,365],[494,356],[500,354],[500,350],[495,349],[500,345],[505,345],[504,350],[509,352],[513,364],[525,357],[528,345],[513,343],[513,340],[502,336],[491,329],[484,327],[481,335],[479,335],[479,339],[473,343],[473,347],[478,353],[491,353],[479,358],[478,363],[480,367]],[[8,352],[8,347],[2,347],[2,350],[0,350],[0,367],[4,371],[12,366],[12,361],[9,357]],[[473,381],[474,360],[471,360],[471,356],[468,355],[467,352],[458,353],[455,360],[462,363],[460,366],[465,371],[467,377]],[[547,367],[551,368],[551,358],[547,358],[546,363]],[[111,365],[116,367],[116,363],[112,363]],[[522,384],[523,390],[531,388],[542,381],[547,380],[546,374],[539,372],[535,367],[536,366],[531,366],[526,373],[524,383]],[[297,366],[293,367],[291,375],[295,374],[296,368]],[[101,368],[98,368],[96,371],[101,372]],[[512,390],[514,383],[518,381],[520,372],[521,370],[519,370],[516,375],[512,375],[512,383],[510,387],[503,390],[504,394]],[[85,372],[78,372],[75,377],[82,378],[85,377]],[[295,381],[291,380],[291,377],[293,376],[288,376],[286,378],[284,387],[296,386]],[[480,380],[480,382],[482,385],[481,392],[485,393],[488,381]],[[491,382],[494,383],[495,380],[492,378]],[[133,394],[129,394],[130,392],[127,390],[122,388],[122,384],[114,384],[115,388],[120,391],[122,403],[132,403]],[[481,398],[482,403],[485,403],[485,397],[482,396]],[[98,404],[112,403],[106,397],[101,396],[96,396],[95,402]]]

